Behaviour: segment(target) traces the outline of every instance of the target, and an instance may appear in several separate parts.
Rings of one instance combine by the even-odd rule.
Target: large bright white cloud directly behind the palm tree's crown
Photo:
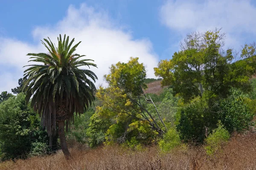
[[[116,26],[115,22],[108,17],[108,13],[102,9],[96,10],[86,4],[82,4],[80,8],[70,6],[67,16],[55,26],[37,27],[32,34],[34,40],[38,42],[36,45],[12,39],[1,40],[4,42],[0,44],[1,64],[12,66],[17,71],[0,73],[0,77],[9,77],[5,79],[6,85],[0,84],[0,91],[10,91],[17,86],[17,80],[23,74],[22,67],[29,60],[27,53],[46,52],[39,40],[50,37],[53,42],[56,42],[59,34],[67,34],[70,38],[75,37],[75,42],[82,41],[76,52],[95,60],[98,69],[92,70],[99,77],[96,85],[104,83],[103,75],[108,74],[111,64],[118,61],[127,62],[129,57],[139,57],[140,62],[147,65],[148,77],[154,77],[153,68],[157,65],[158,56],[154,54],[151,42],[148,39],[134,40],[132,35],[124,31],[121,26]],[[16,79],[15,82],[13,78]]]

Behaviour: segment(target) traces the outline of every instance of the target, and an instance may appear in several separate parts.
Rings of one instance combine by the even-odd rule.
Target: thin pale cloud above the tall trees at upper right
[[[160,8],[161,22],[183,36],[191,31],[223,28],[228,47],[239,47],[256,37],[256,6],[252,0],[167,0]],[[253,40],[251,40],[253,41]]]

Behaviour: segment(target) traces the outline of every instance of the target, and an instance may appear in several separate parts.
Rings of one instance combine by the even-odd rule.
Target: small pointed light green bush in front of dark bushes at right
[[[230,138],[230,134],[224,128],[224,125],[221,125],[221,122],[218,122],[218,127],[212,131],[212,133],[206,139],[206,153],[209,156],[220,152],[222,149],[221,147],[227,143],[228,139]]]

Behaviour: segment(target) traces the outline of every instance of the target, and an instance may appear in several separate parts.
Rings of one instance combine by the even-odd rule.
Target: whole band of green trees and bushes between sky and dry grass
[[[74,55],[78,56],[76,59],[69,60],[73,51],[63,52],[65,46],[65,38],[62,42],[60,37],[58,49],[55,52],[54,47],[49,49],[58,62],[49,62],[48,54],[29,54],[37,56],[38,62],[42,62],[43,56],[45,65],[33,65],[26,70],[26,76],[19,79],[20,86],[12,89],[17,96],[7,92],[0,95],[2,160],[50,153],[47,146],[52,139],[49,140],[46,132],[51,136],[49,126],[55,130],[59,128],[55,125],[64,121],[69,129],[66,137],[70,147],[74,142],[90,147],[119,144],[132,150],[158,146],[160,152],[169,153],[194,146],[204,148],[210,157],[221,153],[233,133],[253,127],[256,79],[252,76],[256,74],[256,44],[244,45],[237,54],[232,49],[223,50],[224,34],[219,29],[192,33],[181,42],[180,51],[175,52],[172,59],[161,60],[154,68],[159,79],[147,79],[143,63],[131,57],[128,62],[111,65],[104,76],[108,86],[99,87],[97,91],[93,91],[95,86],[85,78],[87,75],[95,80],[96,75],[77,68],[95,65],[88,60],[76,61],[81,57],[78,54]],[[75,71],[64,71],[65,64],[59,62],[65,59],[70,65],[76,65],[71,66]],[[32,76],[34,74],[36,76]],[[164,88],[159,95],[145,92],[147,84],[154,81],[161,81]],[[40,91],[41,86],[51,93],[45,95],[45,90]],[[25,89],[25,94],[20,93],[20,89]],[[26,105],[32,94],[33,111]],[[49,105],[51,99],[56,99],[57,104],[50,101]],[[65,105],[63,99],[69,107],[60,119],[58,109]],[[89,106],[93,101],[94,105]],[[40,102],[49,113],[55,109],[57,122],[48,125],[47,119],[51,116],[47,118],[42,108],[39,109]],[[41,113],[46,130],[39,125],[40,118],[35,112]],[[74,112],[84,114],[73,116]],[[65,156],[70,157],[67,153]]]

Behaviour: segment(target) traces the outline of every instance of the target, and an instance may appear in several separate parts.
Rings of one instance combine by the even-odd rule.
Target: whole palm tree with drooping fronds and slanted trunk
[[[69,43],[69,37],[66,39],[64,35],[62,40],[60,35],[58,48],[50,39],[41,42],[48,53],[27,54],[32,56],[29,62],[39,64],[24,66],[29,68],[24,71],[23,79],[26,81],[23,91],[26,93],[26,103],[31,101],[33,110],[39,113],[50,137],[50,145],[58,125],[61,150],[66,159],[70,159],[64,133],[65,121],[67,130],[70,121],[74,121],[74,113],[80,115],[92,105],[96,91],[93,82],[98,79],[92,71],[79,67],[96,67],[96,64],[91,63],[91,59],[81,59],[84,55],[74,54],[81,41],[71,47],[74,39]]]

